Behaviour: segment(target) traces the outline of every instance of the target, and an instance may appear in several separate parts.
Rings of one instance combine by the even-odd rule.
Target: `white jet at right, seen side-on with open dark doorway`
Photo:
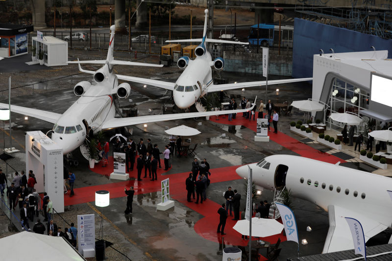
[[[237,168],[243,178],[252,169],[257,186],[291,190],[294,197],[315,203],[329,215],[329,230],[323,253],[354,248],[344,217],[356,218],[365,239],[377,235],[392,222],[392,179],[344,166],[293,155],[272,155],[259,163]]]

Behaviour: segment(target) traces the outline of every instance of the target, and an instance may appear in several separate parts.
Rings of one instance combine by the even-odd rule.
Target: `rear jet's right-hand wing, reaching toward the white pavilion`
[[[284,83],[291,83],[291,82],[303,82],[303,81],[311,81],[311,80],[313,80],[313,78],[270,80],[268,81],[268,85],[284,84]],[[265,85],[266,85],[266,81],[212,84],[208,87],[208,92],[221,92],[221,91],[227,91],[233,89],[241,89],[241,88],[248,88],[254,86],[265,86]]]

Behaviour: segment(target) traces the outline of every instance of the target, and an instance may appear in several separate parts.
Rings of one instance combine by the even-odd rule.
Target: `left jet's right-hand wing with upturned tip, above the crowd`
[[[257,97],[256,97],[257,98]],[[256,101],[256,100],[255,100]],[[175,113],[175,114],[161,114],[161,115],[146,115],[146,116],[138,116],[138,117],[127,117],[127,118],[113,118],[102,124],[102,129],[112,129],[119,128],[123,126],[136,125],[148,122],[158,122],[158,121],[166,121],[173,119],[189,119],[196,117],[204,117],[204,116],[216,116],[222,114],[230,114],[230,113],[242,113],[246,111],[250,111],[255,106],[249,109],[244,110],[227,110],[227,111],[212,111],[212,112],[192,112],[192,113]]]

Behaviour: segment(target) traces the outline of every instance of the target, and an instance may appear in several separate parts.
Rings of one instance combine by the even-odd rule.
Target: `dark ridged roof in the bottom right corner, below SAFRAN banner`
[[[392,244],[369,246],[366,248],[366,255],[369,258],[372,255],[377,255],[380,253],[391,252]],[[355,255],[354,249],[345,250],[333,253],[319,254],[307,257],[289,258],[288,261],[340,261],[347,259],[354,259],[362,257],[361,255]],[[371,261],[391,261],[392,253],[379,255],[371,258]]]

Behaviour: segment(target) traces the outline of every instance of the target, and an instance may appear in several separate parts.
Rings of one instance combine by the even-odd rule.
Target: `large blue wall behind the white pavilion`
[[[325,53],[331,52],[329,48],[335,52],[355,52],[370,51],[371,46],[388,50],[388,58],[392,57],[391,39],[295,18],[293,77],[313,76],[313,55],[319,54],[319,49]]]

